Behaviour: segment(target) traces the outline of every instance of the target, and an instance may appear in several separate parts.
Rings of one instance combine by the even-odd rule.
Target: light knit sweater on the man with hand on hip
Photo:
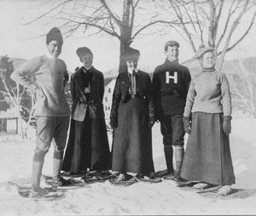
[[[39,56],[20,65],[11,78],[26,88],[39,91],[34,116],[67,117],[64,85],[68,80],[67,65],[63,60]]]

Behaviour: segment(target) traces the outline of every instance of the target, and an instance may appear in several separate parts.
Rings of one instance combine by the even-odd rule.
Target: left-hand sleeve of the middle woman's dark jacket
[[[118,108],[119,102],[121,99],[121,92],[120,92],[120,75],[117,77],[115,86],[113,88],[113,99],[112,99],[112,107],[110,111],[110,118],[118,117]]]

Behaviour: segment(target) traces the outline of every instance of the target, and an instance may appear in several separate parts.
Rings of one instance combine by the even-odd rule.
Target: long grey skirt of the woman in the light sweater
[[[192,114],[192,131],[183,158],[181,177],[212,185],[235,184],[230,140],[223,132],[221,114]]]

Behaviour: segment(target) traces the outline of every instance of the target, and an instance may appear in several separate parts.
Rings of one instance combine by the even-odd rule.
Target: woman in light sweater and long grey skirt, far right
[[[229,82],[214,67],[214,48],[201,46],[194,59],[200,61],[202,69],[190,84],[183,113],[189,139],[181,177],[199,181],[194,187],[200,189],[222,185],[218,193],[227,195],[232,190],[230,185],[235,184],[229,141],[232,118]]]

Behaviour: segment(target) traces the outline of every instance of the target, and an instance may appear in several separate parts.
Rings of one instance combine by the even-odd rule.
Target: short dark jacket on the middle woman
[[[128,77],[128,71],[120,73],[117,77],[113,91],[113,101],[110,117],[117,117],[119,102],[120,100],[125,102],[127,99],[129,99],[130,87],[131,81]],[[154,117],[154,100],[152,93],[152,85],[148,73],[144,71],[137,71],[137,88],[139,97],[148,103],[149,117]]]

